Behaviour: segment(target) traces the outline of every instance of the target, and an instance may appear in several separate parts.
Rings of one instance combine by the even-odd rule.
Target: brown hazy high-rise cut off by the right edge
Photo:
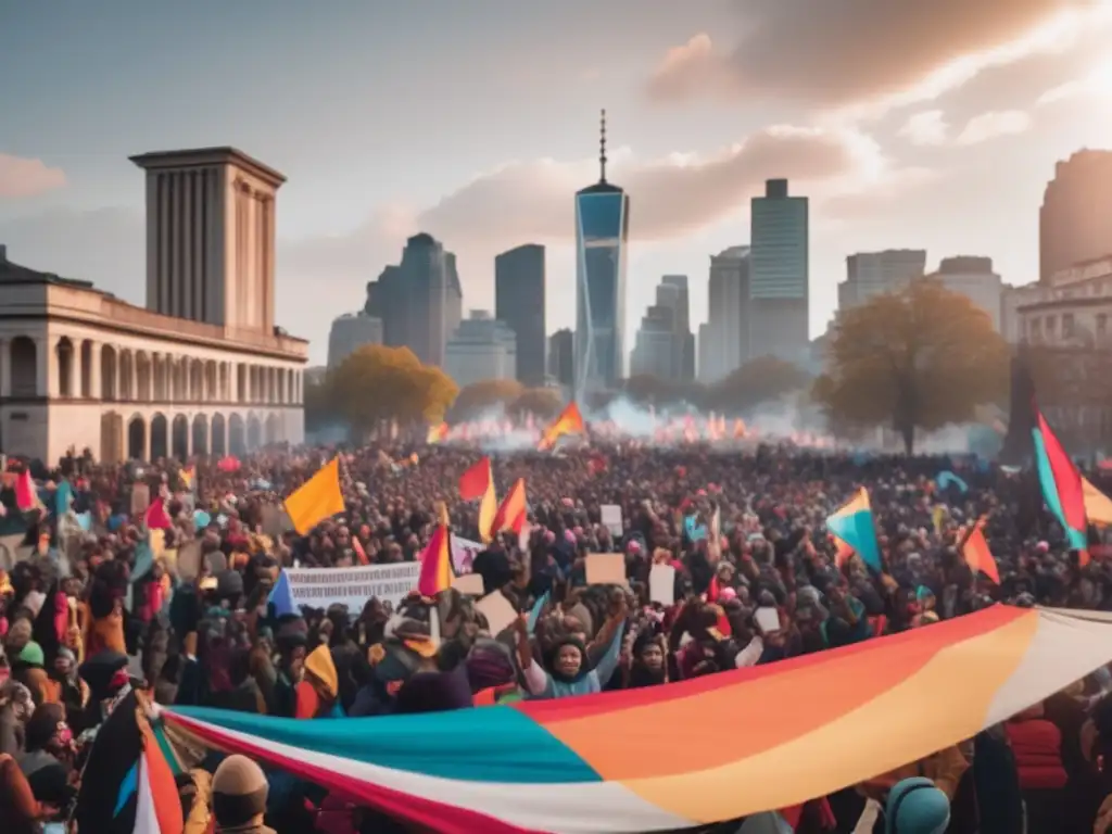
[[[1040,281],[1103,258],[1112,240],[1112,151],[1080,150],[1054,168],[1039,209]]]

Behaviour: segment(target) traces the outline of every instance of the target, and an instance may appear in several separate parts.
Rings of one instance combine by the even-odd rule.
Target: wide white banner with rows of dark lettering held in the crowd
[[[395,608],[417,587],[419,562],[398,562],[364,567],[294,567],[286,568],[294,604],[314,608],[346,605],[359,614],[371,597],[390,603]]]

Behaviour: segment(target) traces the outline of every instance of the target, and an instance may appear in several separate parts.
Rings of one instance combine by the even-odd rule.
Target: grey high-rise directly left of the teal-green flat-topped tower
[[[711,256],[707,325],[699,329],[699,379],[715,383],[749,360],[749,274],[747,246]]]

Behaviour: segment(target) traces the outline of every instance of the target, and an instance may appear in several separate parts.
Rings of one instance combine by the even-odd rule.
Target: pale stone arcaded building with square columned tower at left
[[[281,175],[231,148],[146,155],[147,307],[0,246],[0,450],[56,463],[304,440],[308,342],[274,326]]]

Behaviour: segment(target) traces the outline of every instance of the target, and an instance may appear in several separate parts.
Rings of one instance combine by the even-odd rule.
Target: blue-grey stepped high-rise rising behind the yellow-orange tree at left
[[[406,241],[401,264],[367,285],[364,311],[381,319],[384,344],[408,347],[426,365],[444,366],[448,337],[463,317],[456,256],[431,235]]]

